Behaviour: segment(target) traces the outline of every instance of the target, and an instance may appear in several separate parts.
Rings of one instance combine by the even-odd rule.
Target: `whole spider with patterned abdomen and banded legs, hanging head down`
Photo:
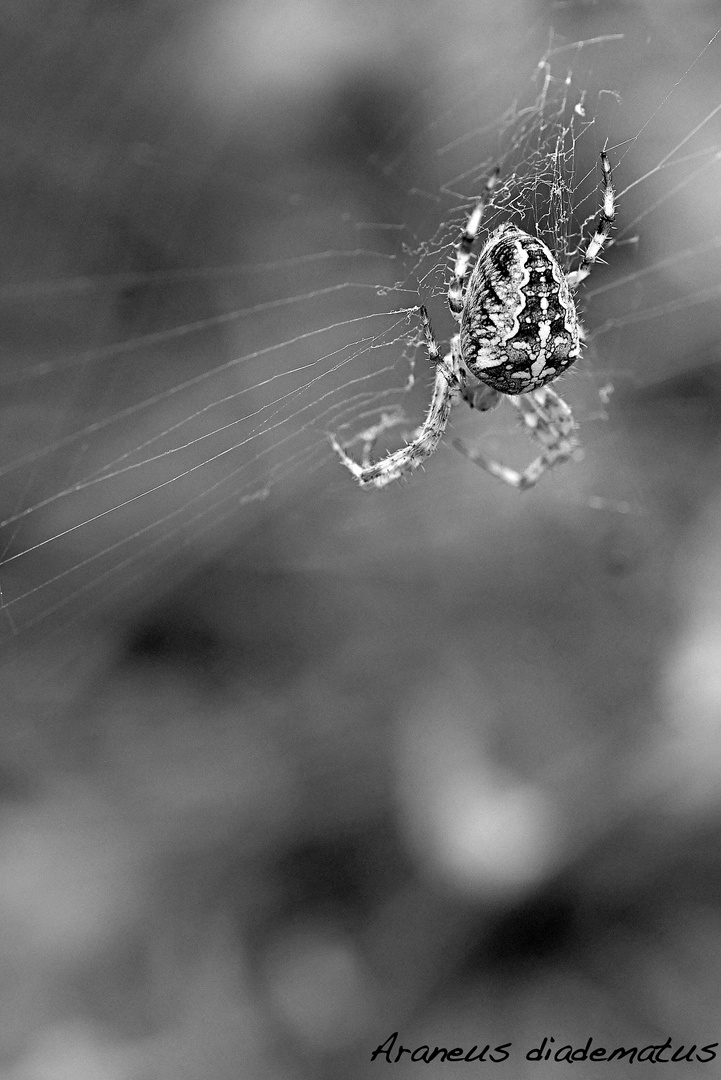
[[[486,192],[455,245],[448,307],[460,324],[460,332],[451,338],[445,356],[440,354],[427,311],[423,306],[416,309],[428,359],[436,369],[423,423],[405,446],[376,462],[371,460],[376,438],[399,422],[397,415],[384,415],[375,428],[356,436],[364,442],[360,463],[335,436],[329,436],[341,461],[362,487],[385,487],[418,469],[436,449],[450,410],[460,401],[486,413],[505,396],[520,413],[530,435],[542,448],[523,472],[485,458],[458,438],[452,441],[471,461],[519,490],[533,487],[546,470],[580,456],[571,409],[550,383],[581,353],[584,332],[573,293],[590,273],[613,228],[615,191],[609,159],[602,151],[602,202],[596,231],[577,268],[569,273],[561,270],[542,240],[506,222],[489,235],[468,274],[473,244],[496,179],[498,172],[488,180]]]

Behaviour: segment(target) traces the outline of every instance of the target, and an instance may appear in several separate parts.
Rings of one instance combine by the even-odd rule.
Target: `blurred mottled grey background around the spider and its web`
[[[554,1077],[523,1057],[544,1036],[717,1041],[718,117],[664,165],[721,102],[719,26],[652,0],[0,8],[3,1077],[364,1078],[394,1031]],[[413,243],[452,242],[444,184],[492,162],[552,28],[625,36],[569,57],[590,191],[608,140],[638,237],[583,296],[583,464],[518,496],[444,449],[366,494],[311,409],[268,455],[225,453],[253,421],[190,447],[180,484],[159,459],[151,498],[132,473],[54,498],[263,406],[373,302],[428,288],[446,339]],[[530,459],[505,411],[458,424]],[[394,1075],[451,1067],[480,1066]]]

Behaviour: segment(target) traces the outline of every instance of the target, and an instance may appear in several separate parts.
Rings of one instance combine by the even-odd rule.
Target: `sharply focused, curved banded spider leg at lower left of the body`
[[[433,395],[431,405],[425,415],[423,423],[412,433],[410,442],[400,449],[387,454],[380,461],[370,461],[370,449],[372,443],[380,431],[393,427],[392,423],[381,419],[376,429],[369,429],[362,433],[364,442],[364,455],[362,462],[357,462],[345,448],[340,445],[334,435],[329,435],[330,445],[339,456],[345,468],[355,476],[360,487],[385,487],[394,480],[398,480],[407,472],[418,469],[420,464],[430,457],[437,447],[450,415],[451,407],[455,403],[460,393],[460,381],[453,367],[453,355],[441,356],[438,342],[435,339],[428,313],[424,307],[419,308],[423,337],[428,351],[428,357],[436,368],[435,382],[433,384]],[[369,437],[366,437],[369,436]],[[355,442],[355,440],[354,440]]]

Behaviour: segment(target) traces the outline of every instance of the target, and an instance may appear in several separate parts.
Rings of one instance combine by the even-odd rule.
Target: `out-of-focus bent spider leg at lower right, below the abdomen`
[[[530,434],[543,447],[543,453],[535,461],[531,462],[528,469],[523,472],[508,469],[507,465],[484,457],[478,450],[462,443],[460,438],[453,440],[453,446],[492,476],[496,476],[504,484],[509,484],[522,491],[533,487],[541,476],[554,465],[561,464],[561,462],[572,458],[577,460],[581,450],[571,409],[550,387],[542,387],[530,394],[509,396],[508,400],[521,414]]]

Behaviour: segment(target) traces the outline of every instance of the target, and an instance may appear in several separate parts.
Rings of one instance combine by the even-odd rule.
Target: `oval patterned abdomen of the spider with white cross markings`
[[[502,225],[468,280],[464,364],[500,393],[525,394],[557,379],[580,351],[575,305],[558,261],[536,237]]]

